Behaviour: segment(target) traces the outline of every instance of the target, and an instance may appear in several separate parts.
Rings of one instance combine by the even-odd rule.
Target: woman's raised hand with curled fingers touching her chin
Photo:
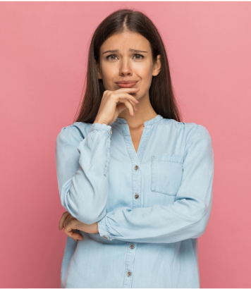
[[[106,90],[99,106],[99,111],[94,123],[110,125],[116,121],[118,114],[124,109],[128,109],[130,116],[134,116],[134,110],[137,111],[139,102],[129,93],[136,93],[139,87],[121,88],[119,90]]]

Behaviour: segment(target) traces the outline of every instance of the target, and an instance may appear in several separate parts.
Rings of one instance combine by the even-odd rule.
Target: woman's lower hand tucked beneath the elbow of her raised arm
[[[59,230],[64,228],[64,233],[69,237],[82,240],[82,235],[76,233],[75,230],[82,230],[85,233],[96,234],[99,233],[97,222],[87,225],[75,219],[68,211],[65,211],[59,221]]]

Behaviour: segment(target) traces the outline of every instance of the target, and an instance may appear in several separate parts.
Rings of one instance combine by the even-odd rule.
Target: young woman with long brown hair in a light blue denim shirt
[[[95,30],[56,173],[68,235],[61,288],[200,288],[212,139],[180,122],[164,44],[143,13],[116,11]]]

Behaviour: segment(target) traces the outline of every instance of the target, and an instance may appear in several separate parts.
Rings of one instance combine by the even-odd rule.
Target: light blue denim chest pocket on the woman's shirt
[[[175,196],[183,176],[183,156],[157,154],[151,162],[151,191]]]

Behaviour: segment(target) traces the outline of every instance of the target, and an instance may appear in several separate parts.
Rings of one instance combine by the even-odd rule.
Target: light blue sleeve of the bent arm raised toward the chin
[[[56,174],[62,206],[82,223],[95,223],[106,214],[109,192],[111,126],[93,123],[83,139],[75,125],[56,138]]]

